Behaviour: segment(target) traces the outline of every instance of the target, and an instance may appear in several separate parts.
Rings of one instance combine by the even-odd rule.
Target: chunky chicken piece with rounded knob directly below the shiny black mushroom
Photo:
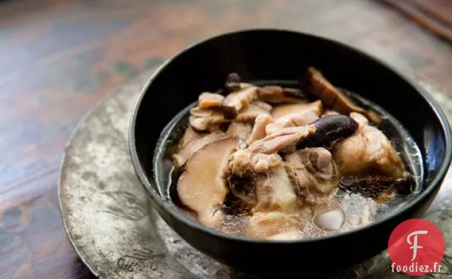
[[[284,156],[286,170],[294,182],[295,192],[301,199],[315,202],[316,195],[328,195],[338,186],[331,153],[325,148],[305,148]]]

